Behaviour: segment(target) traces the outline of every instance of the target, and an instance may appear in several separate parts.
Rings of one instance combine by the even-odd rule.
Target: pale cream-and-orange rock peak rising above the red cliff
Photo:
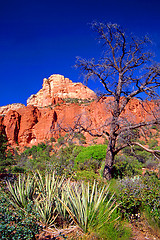
[[[73,83],[62,75],[54,74],[43,79],[42,89],[28,98],[27,105],[44,107],[66,98],[94,99],[96,94],[82,83]]]

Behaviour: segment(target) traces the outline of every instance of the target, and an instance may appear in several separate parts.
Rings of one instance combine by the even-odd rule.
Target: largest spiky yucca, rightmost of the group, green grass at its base
[[[89,183],[78,184],[68,181],[63,187],[68,200],[65,202],[59,199],[59,201],[73,221],[87,233],[93,229],[100,229],[104,223],[109,222],[118,206],[113,199],[114,195],[109,198],[108,188],[109,185],[99,187],[96,181],[92,186]]]

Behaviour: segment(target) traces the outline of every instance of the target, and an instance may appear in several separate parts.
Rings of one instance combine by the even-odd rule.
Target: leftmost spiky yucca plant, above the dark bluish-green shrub
[[[36,186],[33,176],[19,175],[13,184],[7,181],[7,186],[11,194],[10,202],[15,207],[25,209],[28,203],[33,200]]]

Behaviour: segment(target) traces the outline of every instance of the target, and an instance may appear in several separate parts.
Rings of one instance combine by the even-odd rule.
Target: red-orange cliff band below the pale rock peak
[[[62,128],[73,127],[79,121],[84,127],[97,129],[108,125],[112,118],[112,98],[103,98],[88,104],[61,103],[58,106],[38,108],[27,106],[16,111],[9,111],[4,117],[0,117],[0,128],[5,129],[9,143],[13,146],[18,143],[20,146],[32,146],[51,137],[58,138],[59,132],[65,135]],[[155,108],[154,102],[146,102],[143,106],[138,99],[129,102],[122,114],[121,121],[143,122],[153,118],[151,109]],[[84,134],[87,143],[92,143],[93,137],[88,133]],[[98,138],[97,143],[104,142]]]

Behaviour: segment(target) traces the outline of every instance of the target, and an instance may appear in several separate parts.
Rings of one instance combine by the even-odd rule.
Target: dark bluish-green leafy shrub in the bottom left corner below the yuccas
[[[0,193],[0,239],[17,240],[35,239],[41,227],[37,224],[36,218],[30,214],[30,205],[26,212],[11,206],[4,193]]]

